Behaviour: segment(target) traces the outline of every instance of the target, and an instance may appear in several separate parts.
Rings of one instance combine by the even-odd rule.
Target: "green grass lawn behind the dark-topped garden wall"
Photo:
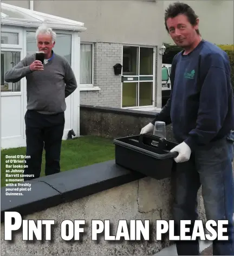
[[[73,140],[63,140],[61,149],[61,171],[67,171],[115,158],[113,139],[84,136]],[[44,151],[41,176],[44,176]],[[26,148],[1,150],[1,187],[5,186],[5,156],[26,155]],[[23,160],[23,159],[22,159]]]

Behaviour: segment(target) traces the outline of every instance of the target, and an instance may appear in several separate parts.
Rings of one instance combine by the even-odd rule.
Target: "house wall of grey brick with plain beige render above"
[[[23,1],[2,1],[25,7]],[[14,3],[12,3],[14,2]],[[24,1],[27,2],[27,1]],[[29,2],[29,1],[28,1]],[[85,23],[81,42],[94,43],[94,79],[96,91],[83,91],[81,104],[121,107],[121,76],[114,75],[113,66],[122,63],[122,44],[161,46],[163,1],[34,1],[34,10]],[[157,53],[155,63],[158,63]],[[159,61],[160,62],[160,61]],[[155,65],[156,70],[157,65]],[[160,104],[155,72],[155,100]],[[160,82],[160,76],[158,77]],[[161,85],[161,83],[160,83]],[[158,94],[157,94],[158,91]],[[157,101],[158,98],[158,101]]]

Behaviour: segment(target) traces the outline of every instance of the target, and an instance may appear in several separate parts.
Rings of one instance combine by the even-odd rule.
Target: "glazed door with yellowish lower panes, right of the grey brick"
[[[122,107],[153,105],[154,48],[123,46]]]

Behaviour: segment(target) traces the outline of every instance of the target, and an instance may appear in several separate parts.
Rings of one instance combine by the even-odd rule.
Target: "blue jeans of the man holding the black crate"
[[[202,195],[207,220],[228,220],[229,241],[213,241],[213,255],[234,255],[233,230],[233,142],[220,139],[200,146],[190,161],[176,164],[174,221],[179,231],[181,220],[195,221],[197,192]],[[215,227],[214,227],[215,228]],[[224,234],[226,235],[226,234]],[[178,255],[199,255],[198,241],[176,241]]]

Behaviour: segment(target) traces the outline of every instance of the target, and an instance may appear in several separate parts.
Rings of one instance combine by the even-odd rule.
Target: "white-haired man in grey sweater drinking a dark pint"
[[[46,151],[45,174],[60,172],[61,143],[64,130],[65,98],[77,88],[68,61],[54,53],[56,33],[41,25],[36,31],[38,50],[44,52],[44,63],[36,54],[26,56],[5,73],[5,81],[27,79],[27,112],[25,113],[28,168],[24,181],[40,177],[42,151]],[[29,158],[30,157],[30,158]]]

